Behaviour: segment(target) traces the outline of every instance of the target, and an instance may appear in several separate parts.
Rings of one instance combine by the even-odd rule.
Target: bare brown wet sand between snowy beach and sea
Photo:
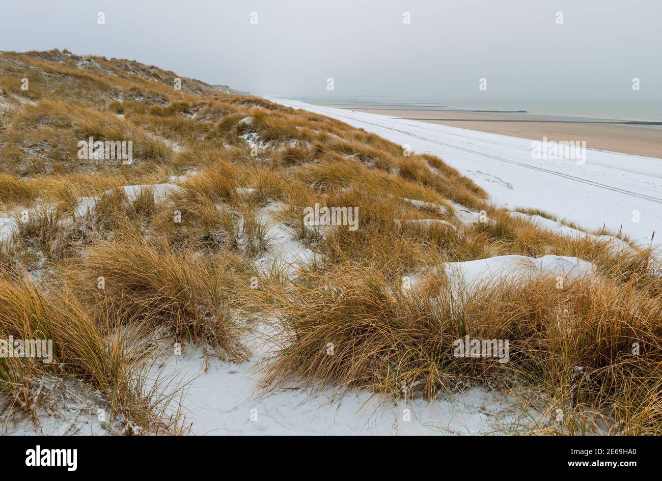
[[[334,105],[326,107],[352,109],[405,119],[420,120],[491,132],[532,140],[586,141],[587,148],[662,158],[662,125],[611,123],[618,120],[524,112],[480,112],[408,105]]]

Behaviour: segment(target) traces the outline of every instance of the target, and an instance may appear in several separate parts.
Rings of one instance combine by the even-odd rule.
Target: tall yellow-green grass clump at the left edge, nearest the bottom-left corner
[[[149,392],[142,390],[152,356],[144,343],[147,332],[138,322],[122,328],[108,316],[91,316],[63,279],[51,279],[46,291],[23,275],[0,276],[2,338],[52,341],[50,363],[34,357],[1,359],[6,407],[34,412],[45,375],[75,376],[109,400],[111,419],[122,414],[150,432],[159,416]]]

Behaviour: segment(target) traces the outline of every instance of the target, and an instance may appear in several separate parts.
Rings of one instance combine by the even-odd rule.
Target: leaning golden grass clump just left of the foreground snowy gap
[[[246,358],[240,342],[244,328],[233,312],[232,277],[223,265],[228,262],[190,249],[175,251],[166,240],[126,232],[113,241],[97,241],[80,270],[88,291],[109,302],[122,318],[138,316],[175,339],[219,346],[240,361]],[[99,278],[102,290],[97,289]]]

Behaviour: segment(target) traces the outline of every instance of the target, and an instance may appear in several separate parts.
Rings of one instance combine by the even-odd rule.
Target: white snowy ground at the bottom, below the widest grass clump
[[[260,337],[264,337],[262,334]],[[526,412],[498,390],[469,390],[434,402],[399,401],[367,390],[344,394],[325,388],[256,390],[258,365],[271,349],[257,339],[253,358],[240,365],[215,363],[203,372],[201,351],[189,347],[171,356],[164,375],[181,376],[187,385],[184,414],[195,435],[430,435],[485,434],[497,426],[540,417]],[[408,411],[406,411],[408,410]]]

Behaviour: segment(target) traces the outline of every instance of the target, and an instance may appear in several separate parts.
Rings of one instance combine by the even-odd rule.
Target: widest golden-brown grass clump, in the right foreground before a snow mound
[[[432,399],[467,381],[524,383],[567,414],[603,413],[615,433],[662,432],[655,288],[583,278],[557,289],[555,278],[542,276],[455,292],[442,279],[430,297],[429,286],[404,292],[398,281],[348,263],[271,286],[270,312],[283,328],[263,385],[334,384],[389,396],[404,387],[407,396]],[[508,339],[508,362],[455,357],[454,342],[465,335]]]

